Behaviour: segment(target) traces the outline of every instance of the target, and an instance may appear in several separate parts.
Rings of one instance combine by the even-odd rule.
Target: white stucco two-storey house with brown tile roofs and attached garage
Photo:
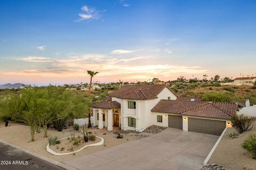
[[[93,125],[113,126],[142,132],[151,125],[183,131],[220,135],[236,114],[236,103],[205,102],[199,98],[179,98],[166,85],[125,85],[103,102],[95,103]]]

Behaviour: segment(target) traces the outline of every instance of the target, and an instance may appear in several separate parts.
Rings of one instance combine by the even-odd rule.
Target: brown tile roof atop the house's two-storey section
[[[165,84],[125,85],[119,88],[119,90],[111,93],[111,96],[120,99],[134,100],[155,99],[165,87],[167,87],[175,96],[178,96]]]

